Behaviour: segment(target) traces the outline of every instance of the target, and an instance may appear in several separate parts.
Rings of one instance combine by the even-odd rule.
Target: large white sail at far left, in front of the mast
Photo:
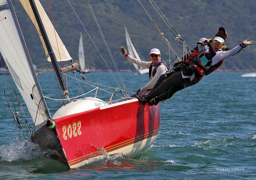
[[[0,17],[6,17],[0,21],[0,52],[35,126],[40,126],[50,115],[44,99],[39,104],[43,93],[10,0],[0,0]]]

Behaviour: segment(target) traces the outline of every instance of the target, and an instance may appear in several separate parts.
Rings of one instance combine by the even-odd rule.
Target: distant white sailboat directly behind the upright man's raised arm
[[[128,32],[127,32],[127,29],[126,29],[125,26],[124,26],[124,28],[125,28],[125,37],[126,37],[128,53],[131,56],[133,56],[133,57],[135,57],[135,58],[140,60],[140,56],[138,55],[137,51],[135,50],[135,48],[134,48],[134,46],[132,44],[132,41],[131,41],[130,36],[129,36]],[[133,63],[133,66],[136,68],[137,71],[139,71],[140,74],[147,74],[148,73],[148,69],[140,68],[137,64],[134,64],[134,63]]]

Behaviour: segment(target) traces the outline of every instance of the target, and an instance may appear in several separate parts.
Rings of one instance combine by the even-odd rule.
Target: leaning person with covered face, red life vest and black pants
[[[216,51],[206,38],[201,38],[196,44],[198,51],[193,51],[185,61],[179,62],[179,65],[174,68],[175,72],[161,76],[147,96],[136,96],[142,104],[146,104],[151,99],[156,100],[158,96],[163,95],[164,99],[161,100],[168,99],[171,97],[169,92],[172,91],[172,88],[182,87],[181,89],[183,89],[187,83],[191,86],[202,79],[204,68],[211,65]],[[151,101],[150,105],[158,102]]]

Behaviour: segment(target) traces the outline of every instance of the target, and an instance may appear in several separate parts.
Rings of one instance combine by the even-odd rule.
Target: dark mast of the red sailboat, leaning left
[[[46,48],[47,48],[47,50],[48,50],[48,53],[49,53],[49,55],[50,55],[50,58],[51,58],[51,61],[52,61],[52,64],[53,64],[53,68],[54,68],[54,70],[55,70],[55,72],[56,72],[56,74],[57,74],[57,77],[58,77],[58,80],[59,80],[59,83],[60,83],[62,92],[63,92],[63,94],[65,95],[66,99],[69,100],[69,97],[68,97],[69,94],[68,94],[67,87],[66,87],[65,83],[63,82],[63,78],[62,78],[62,76],[61,76],[60,68],[58,67],[57,60],[56,60],[56,58],[55,58],[54,52],[52,51],[52,46],[51,46],[50,41],[49,41],[49,39],[48,39],[48,36],[47,36],[47,34],[46,34],[46,32],[45,32],[45,29],[44,29],[42,20],[41,20],[41,18],[39,17],[39,13],[38,13],[38,11],[37,11],[35,2],[34,2],[34,0],[29,0],[29,3],[30,3],[30,5],[31,5],[31,8],[32,8],[33,13],[34,13],[34,15],[35,15],[36,22],[37,22],[37,24],[38,24],[38,26],[39,26],[40,32],[41,32],[41,34],[42,34],[42,37],[43,37],[43,39],[44,39],[45,46],[46,46]],[[68,100],[67,100],[67,101],[68,101]]]

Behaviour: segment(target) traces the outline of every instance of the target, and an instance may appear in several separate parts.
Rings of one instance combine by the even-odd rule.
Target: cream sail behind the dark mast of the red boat
[[[37,25],[36,22],[36,18],[34,16],[33,10],[29,4],[28,0],[20,0],[20,3],[22,4],[23,8],[26,10],[26,12],[28,13],[28,16],[30,17],[30,19],[32,20],[33,24],[36,26],[36,30],[39,34],[40,40],[43,44],[44,47],[44,52],[45,52],[45,56],[47,57],[48,61],[51,61],[51,58],[48,54],[47,48],[45,46],[42,34],[39,30],[39,27]],[[36,4],[36,8],[38,10],[38,13],[40,15],[40,18],[43,22],[46,34],[48,36],[48,39],[50,41],[50,44],[52,46],[52,50],[56,56],[57,61],[68,61],[71,60],[72,58],[70,57],[68,50],[66,49],[65,45],[63,44],[63,42],[61,41],[58,33],[56,32],[56,30],[54,29],[51,20],[48,18],[47,14],[44,11],[44,8],[42,7],[42,5],[40,4],[39,0],[35,0],[35,4]]]

